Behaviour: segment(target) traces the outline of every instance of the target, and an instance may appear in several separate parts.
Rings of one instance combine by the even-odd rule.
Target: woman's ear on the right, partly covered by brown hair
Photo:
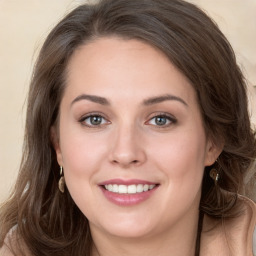
[[[215,163],[224,147],[224,143],[220,142],[218,145],[212,139],[208,139],[205,152],[205,166],[211,166]]]

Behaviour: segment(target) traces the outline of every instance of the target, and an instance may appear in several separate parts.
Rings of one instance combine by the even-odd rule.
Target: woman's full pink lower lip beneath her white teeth
[[[142,203],[149,199],[157,190],[158,186],[146,192],[136,193],[136,194],[119,194],[106,190],[100,186],[104,196],[112,203],[121,206],[132,206]]]

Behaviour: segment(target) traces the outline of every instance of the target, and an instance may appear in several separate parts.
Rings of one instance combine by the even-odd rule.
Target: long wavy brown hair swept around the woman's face
[[[193,85],[207,135],[224,145],[214,164],[220,174],[217,186],[209,177],[212,167],[205,169],[200,209],[216,218],[234,213],[237,193],[243,193],[244,177],[256,158],[256,141],[245,79],[229,42],[203,11],[185,1],[102,0],[69,13],[41,49],[29,89],[18,180],[0,211],[0,246],[16,226],[15,244],[25,245],[33,256],[90,255],[88,221],[69,192],[58,189],[50,130],[58,122],[73,52],[109,36],[160,49]]]

